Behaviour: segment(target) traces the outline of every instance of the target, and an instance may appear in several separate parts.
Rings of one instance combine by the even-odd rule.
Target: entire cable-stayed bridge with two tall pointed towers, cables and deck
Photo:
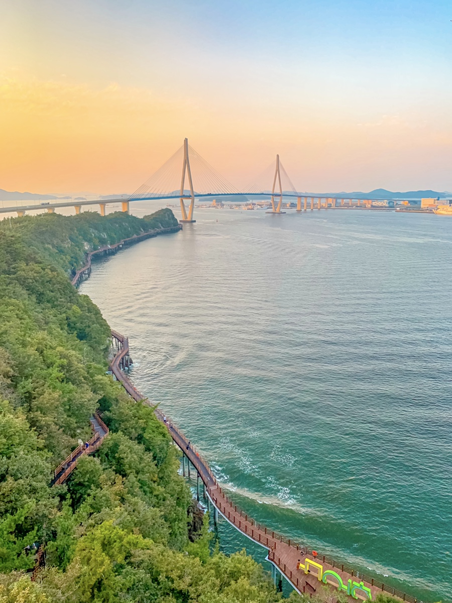
[[[105,215],[105,206],[113,203],[121,203],[123,212],[130,211],[130,203],[134,201],[147,200],[180,200],[181,222],[195,222],[193,212],[195,209],[195,198],[202,197],[230,197],[231,195],[243,195],[244,198],[258,197],[268,200],[269,210],[267,213],[283,214],[283,198],[296,198],[297,211],[308,209],[328,209],[337,207],[337,201],[341,201],[339,207],[361,203],[371,204],[372,200],[360,199],[337,199],[334,197],[315,196],[306,197],[298,192],[293,186],[289,175],[281,163],[280,156],[270,163],[257,177],[253,183],[240,191],[228,182],[215,168],[210,165],[197,151],[184,140],[184,144],[157,169],[151,177],[146,180],[133,194],[121,198],[101,199],[94,201],[83,200],[57,200],[40,204],[25,204],[13,207],[0,207],[0,213],[17,212],[24,215],[27,210],[46,209],[53,213],[58,207],[74,207],[75,213],[80,213],[82,206],[99,204],[101,215]],[[310,201],[308,201],[310,199]],[[303,200],[303,201],[302,201]],[[345,203],[348,201],[348,203]]]

